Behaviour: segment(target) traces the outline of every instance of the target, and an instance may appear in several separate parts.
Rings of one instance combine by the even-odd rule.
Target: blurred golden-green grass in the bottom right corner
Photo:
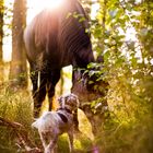
[[[153,153],[152,102],[128,102],[115,107],[96,141],[102,153]]]

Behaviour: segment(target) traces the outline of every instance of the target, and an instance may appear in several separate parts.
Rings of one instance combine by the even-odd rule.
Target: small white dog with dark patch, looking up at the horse
[[[58,98],[59,108],[56,111],[46,111],[32,123],[38,133],[45,153],[52,153],[58,137],[64,132],[69,136],[70,153],[73,151],[74,114],[79,107],[79,98],[68,94]]]

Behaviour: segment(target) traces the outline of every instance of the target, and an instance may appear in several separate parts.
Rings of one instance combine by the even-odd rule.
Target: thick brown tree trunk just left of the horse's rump
[[[12,23],[11,85],[24,87],[27,84],[26,57],[23,32],[26,23],[26,0],[14,0]]]

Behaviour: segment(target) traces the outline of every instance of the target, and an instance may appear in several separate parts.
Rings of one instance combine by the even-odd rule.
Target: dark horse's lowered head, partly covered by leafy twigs
[[[93,132],[97,133],[108,113],[107,86],[103,68],[97,63],[86,70],[73,71],[72,93],[78,95],[80,107],[92,123]]]

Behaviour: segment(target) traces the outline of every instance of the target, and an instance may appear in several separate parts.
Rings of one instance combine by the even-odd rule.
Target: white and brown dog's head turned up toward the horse
[[[68,94],[60,96],[58,98],[61,108],[68,108],[70,110],[75,110],[79,107],[79,98],[74,94]]]

